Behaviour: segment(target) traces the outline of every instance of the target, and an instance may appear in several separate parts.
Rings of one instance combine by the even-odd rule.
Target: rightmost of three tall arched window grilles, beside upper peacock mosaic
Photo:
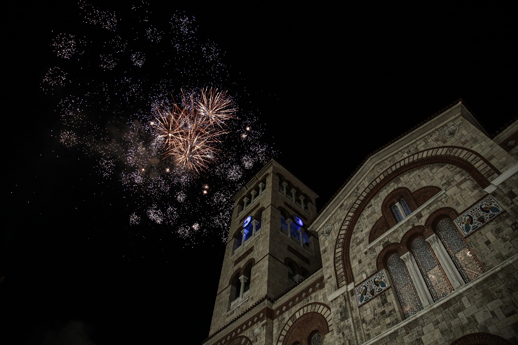
[[[437,234],[448,249],[450,257],[466,283],[484,273],[484,268],[474,256],[464,238],[458,233],[451,219],[443,219],[437,224]]]

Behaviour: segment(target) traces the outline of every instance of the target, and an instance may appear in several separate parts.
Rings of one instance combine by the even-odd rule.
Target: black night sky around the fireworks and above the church
[[[133,13],[129,3],[92,6],[119,18]],[[221,86],[240,95],[240,109],[262,124],[261,142],[320,195],[320,209],[365,156],[458,98],[490,134],[516,114],[510,8],[413,6],[151,2],[139,11],[147,10],[146,23],[159,29],[173,13],[195,18],[196,38],[214,42],[221,52],[226,66]],[[200,343],[208,336],[217,293],[221,236],[205,232],[185,241],[174,224],[145,217],[131,226],[133,209],[126,201],[138,196],[119,179],[100,175],[95,155],[56,139],[62,129],[56,106],[77,89],[64,86],[53,95],[41,89],[49,68],[61,66],[53,39],[60,33],[99,41],[113,35],[81,16],[77,3],[11,7],[4,13],[7,222],[1,239],[0,342]],[[120,35],[131,37],[124,23],[119,21]],[[151,45],[143,39],[135,44]],[[93,55],[100,50],[85,47]],[[150,52],[150,64],[154,53],[147,48],[141,51]],[[165,76],[169,67],[161,67],[159,59],[167,54],[156,56],[154,66],[145,70],[144,63],[138,73]],[[64,70],[75,63],[61,62]],[[92,80],[105,78],[103,73],[98,66],[89,70]],[[137,72],[128,67],[127,76],[132,73]],[[197,83],[184,77],[170,92],[212,86]],[[149,104],[140,105],[149,111]],[[104,119],[99,126],[108,126]],[[255,164],[239,183],[261,166]]]

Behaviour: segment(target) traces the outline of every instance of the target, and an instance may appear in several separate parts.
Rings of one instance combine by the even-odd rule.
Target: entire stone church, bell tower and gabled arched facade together
[[[517,136],[488,137],[458,101],[320,213],[271,160],[234,197],[204,344],[518,343]]]

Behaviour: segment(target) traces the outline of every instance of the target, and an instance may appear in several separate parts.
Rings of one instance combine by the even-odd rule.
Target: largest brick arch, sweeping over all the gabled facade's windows
[[[337,287],[354,281],[349,248],[354,227],[370,200],[381,188],[386,186],[397,176],[412,169],[428,164],[447,163],[466,171],[473,179],[485,188],[490,185],[490,179],[500,172],[486,158],[479,153],[465,147],[440,146],[419,151],[411,156],[399,160],[385,169],[370,184],[358,194],[356,201],[349,208],[338,231],[335,243],[335,278]]]

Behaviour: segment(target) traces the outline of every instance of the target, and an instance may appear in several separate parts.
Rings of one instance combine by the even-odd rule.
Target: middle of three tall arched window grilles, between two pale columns
[[[414,239],[414,242],[412,242],[412,252],[434,302],[452,293],[451,283],[424,237]]]

